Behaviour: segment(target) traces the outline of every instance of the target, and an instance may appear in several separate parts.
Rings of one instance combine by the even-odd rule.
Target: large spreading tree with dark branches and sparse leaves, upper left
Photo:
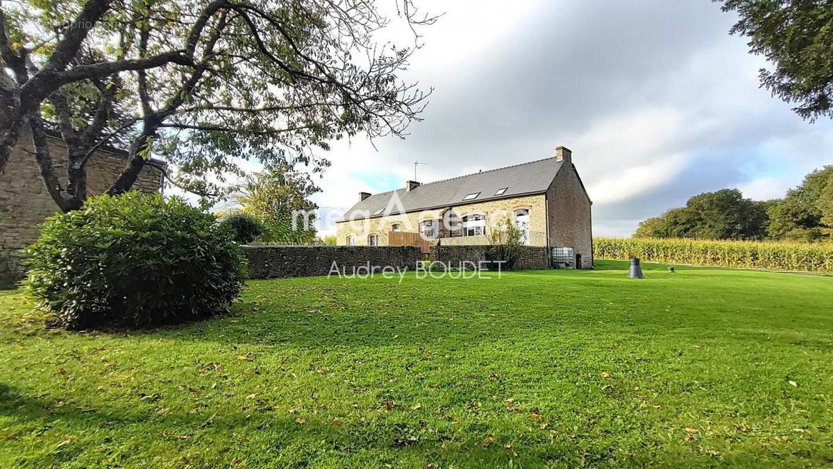
[[[426,94],[398,76],[416,28],[435,18],[411,0],[392,5],[413,44],[377,39],[391,20],[370,0],[3,2],[0,174],[30,132],[47,190],[68,211],[86,197],[88,157],[113,142],[129,159],[108,193],[161,155],[174,183],[217,197],[238,157],[320,170],[315,150],[334,139],[402,137]],[[66,184],[50,126],[67,143]]]

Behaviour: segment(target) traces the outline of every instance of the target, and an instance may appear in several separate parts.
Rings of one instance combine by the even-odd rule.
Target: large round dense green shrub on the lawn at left
[[[47,218],[27,287],[71,329],[175,324],[227,312],[245,273],[211,214],[179,198],[97,196]]]

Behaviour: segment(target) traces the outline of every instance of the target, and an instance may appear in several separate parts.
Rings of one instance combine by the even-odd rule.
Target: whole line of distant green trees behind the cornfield
[[[737,189],[702,193],[641,222],[633,236],[833,242],[833,165],[807,174],[781,199],[754,201]]]

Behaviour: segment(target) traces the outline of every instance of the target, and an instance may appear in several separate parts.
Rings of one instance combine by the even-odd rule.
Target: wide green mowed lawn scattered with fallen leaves
[[[137,333],[0,292],[0,467],[831,464],[833,278],[644,267],[255,281]]]

